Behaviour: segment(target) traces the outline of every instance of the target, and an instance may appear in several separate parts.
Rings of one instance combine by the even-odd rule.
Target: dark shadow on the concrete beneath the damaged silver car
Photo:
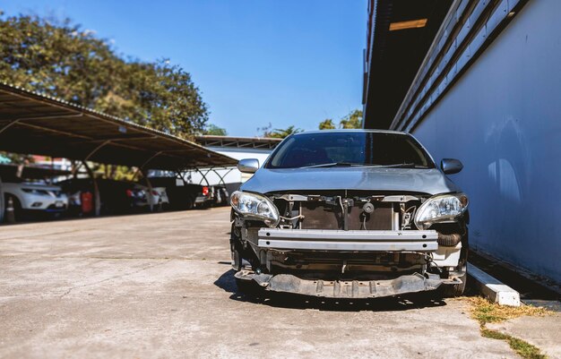
[[[446,302],[437,295],[423,294],[400,295],[371,299],[334,299],[308,295],[275,293],[255,286],[249,292],[237,288],[234,269],[229,269],[218,278],[214,285],[231,293],[230,299],[238,302],[270,305],[279,308],[315,309],[328,312],[395,312],[410,309],[440,307]]]

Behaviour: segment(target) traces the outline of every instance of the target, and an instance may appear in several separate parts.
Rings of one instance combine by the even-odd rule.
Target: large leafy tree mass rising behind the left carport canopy
[[[123,59],[70,20],[0,14],[0,79],[162,132],[203,132],[207,107],[189,73],[162,59]]]

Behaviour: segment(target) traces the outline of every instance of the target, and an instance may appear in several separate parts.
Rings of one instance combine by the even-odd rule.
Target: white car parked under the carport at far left
[[[5,206],[12,198],[16,216],[25,211],[59,213],[68,207],[68,197],[56,185],[25,182],[19,177],[3,178]]]

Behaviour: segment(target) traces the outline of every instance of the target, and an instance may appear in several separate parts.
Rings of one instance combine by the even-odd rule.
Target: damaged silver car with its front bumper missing
[[[290,135],[232,193],[237,285],[333,298],[462,295],[468,197],[406,132]]]

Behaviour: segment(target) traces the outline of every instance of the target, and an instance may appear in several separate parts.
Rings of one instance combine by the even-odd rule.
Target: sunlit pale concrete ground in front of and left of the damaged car
[[[229,209],[0,227],[0,357],[512,358],[462,300],[237,293]]]

